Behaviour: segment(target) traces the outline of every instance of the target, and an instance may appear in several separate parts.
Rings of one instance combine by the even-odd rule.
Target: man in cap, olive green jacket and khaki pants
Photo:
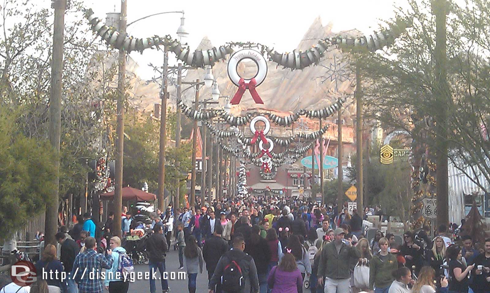
[[[323,285],[325,293],[343,293],[350,291],[350,270],[361,260],[361,254],[354,246],[343,243],[345,232],[342,228],[334,231],[335,240],[325,244],[320,254],[318,266],[318,284]]]

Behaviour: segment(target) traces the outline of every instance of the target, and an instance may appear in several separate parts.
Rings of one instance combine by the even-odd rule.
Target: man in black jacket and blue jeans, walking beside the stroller
[[[160,271],[160,280],[162,281],[162,292],[169,292],[169,282],[164,279],[163,272],[165,271],[165,252],[169,249],[167,246],[167,239],[163,235],[161,226],[155,225],[153,227],[153,233],[147,240],[147,252],[149,259],[150,275],[158,269]],[[155,293],[155,279],[150,277],[150,293]]]

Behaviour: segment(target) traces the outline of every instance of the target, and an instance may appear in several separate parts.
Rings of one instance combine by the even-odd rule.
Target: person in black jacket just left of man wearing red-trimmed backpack
[[[223,228],[216,227],[213,237],[204,242],[202,247],[202,257],[206,262],[206,269],[208,271],[208,281],[211,280],[213,272],[220,261],[221,256],[228,250],[228,243],[221,238]],[[219,286],[218,286],[219,287]],[[219,292],[219,290],[217,290]]]

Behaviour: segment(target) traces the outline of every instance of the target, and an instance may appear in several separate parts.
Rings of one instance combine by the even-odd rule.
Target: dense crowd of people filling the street
[[[127,208],[121,217],[123,235],[131,235],[137,221]],[[46,245],[38,270],[73,276],[76,269],[116,273],[126,268],[122,240],[112,236],[114,215],[99,232],[89,214],[83,218],[69,232],[60,228],[56,240],[61,253]],[[312,293],[484,293],[490,288],[490,239],[475,244],[460,227],[455,227],[460,235],[441,225],[434,236],[428,227],[406,231],[402,243],[382,231],[368,240],[356,210],[351,216],[336,206],[255,197],[190,208],[169,206],[164,213],[152,214],[151,220],[144,225],[150,234],[148,266],[160,272],[163,292],[170,291],[163,274],[172,237],[190,293],[196,292],[197,274],[204,265],[209,293],[301,293],[305,288]],[[149,282],[150,293],[155,293],[155,280]],[[49,292],[70,293],[75,288],[126,293],[129,288],[121,278],[78,275],[68,282],[49,279],[47,285]]]

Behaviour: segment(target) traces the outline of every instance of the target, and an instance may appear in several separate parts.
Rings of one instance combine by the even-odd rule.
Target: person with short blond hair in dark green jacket
[[[378,242],[381,251],[372,257],[369,264],[369,290],[375,293],[388,293],[393,283],[392,271],[398,269],[396,256],[388,252],[388,239],[383,237]]]

